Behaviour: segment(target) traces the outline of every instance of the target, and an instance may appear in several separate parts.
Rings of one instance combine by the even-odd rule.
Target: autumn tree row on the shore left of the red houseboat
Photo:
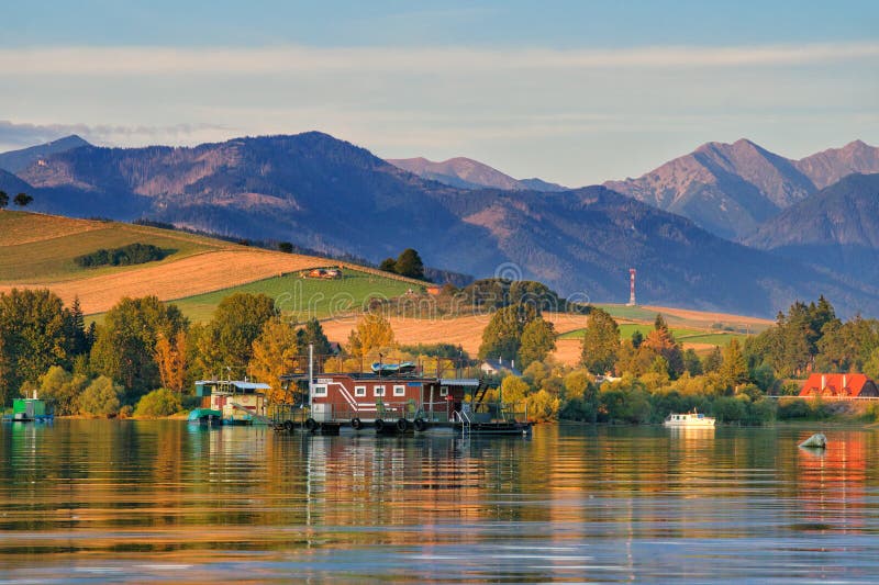
[[[291,324],[265,294],[226,296],[205,324],[156,296],[125,297],[86,327],[78,301],[68,308],[47,290],[13,289],[0,294],[0,400],[36,390],[58,415],[130,415],[140,405],[160,416],[180,410],[198,379],[245,375],[277,398],[285,361],[309,344],[330,351],[318,320]]]

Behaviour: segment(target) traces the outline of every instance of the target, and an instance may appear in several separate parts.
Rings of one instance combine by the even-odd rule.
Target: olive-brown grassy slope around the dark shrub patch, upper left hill
[[[85,269],[74,259],[100,248],[119,248],[134,243],[174,250],[162,260],[165,263],[202,251],[232,247],[218,240],[154,227],[2,211],[0,283],[52,283],[131,270],[136,267]],[[157,262],[138,266],[153,263]]]

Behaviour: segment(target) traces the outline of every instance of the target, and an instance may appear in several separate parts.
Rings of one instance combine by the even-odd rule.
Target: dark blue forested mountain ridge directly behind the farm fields
[[[789,171],[756,145],[739,147]],[[839,172],[819,167],[827,178]],[[790,185],[789,206],[810,196],[780,173],[738,169],[749,184],[760,179],[779,193]],[[411,246],[430,266],[542,280],[579,299],[625,301],[635,267],[639,299],[656,304],[766,316],[825,294],[842,314],[879,314],[876,282],[776,251],[785,248],[777,241],[733,243],[608,187],[552,195],[452,187],[318,132],[192,148],[80,145],[41,155],[15,175],[0,172],[0,189],[26,190],[36,211],[149,217],[374,261]]]

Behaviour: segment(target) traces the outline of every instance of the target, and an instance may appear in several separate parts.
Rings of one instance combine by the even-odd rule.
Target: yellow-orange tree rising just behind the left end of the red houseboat
[[[292,402],[292,395],[281,385],[280,376],[287,373],[290,360],[300,352],[297,330],[290,323],[275,317],[263,326],[263,331],[253,344],[247,374],[271,386],[266,393],[269,402]]]

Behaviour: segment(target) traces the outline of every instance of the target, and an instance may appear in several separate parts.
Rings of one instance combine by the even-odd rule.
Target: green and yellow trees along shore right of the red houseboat
[[[572,368],[552,357],[552,324],[541,322],[533,305],[498,310],[479,350],[481,358],[518,360],[522,375],[503,378],[498,395],[536,419],[658,423],[671,412],[699,408],[721,421],[764,424],[826,414],[820,401],[769,400],[798,394],[801,382],[792,378],[812,371],[879,378],[879,322],[843,322],[823,296],[794,303],[744,344],[734,337],[702,355],[683,349],[661,315],[646,336],[636,330],[621,339],[613,317],[593,306]],[[879,408],[868,408],[867,416],[879,418]]]

